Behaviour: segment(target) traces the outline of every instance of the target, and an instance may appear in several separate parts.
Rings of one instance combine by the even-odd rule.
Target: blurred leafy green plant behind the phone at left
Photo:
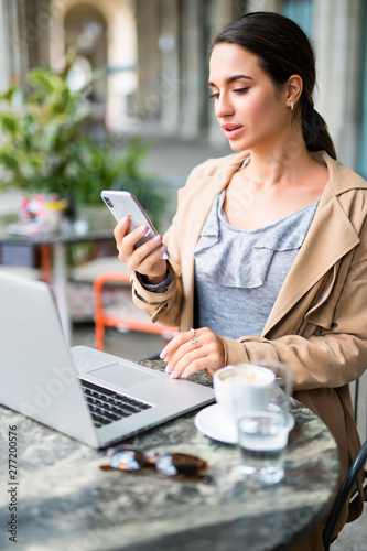
[[[118,181],[143,182],[141,169],[148,145],[139,138],[119,148],[111,138],[96,144],[85,131],[90,110],[85,90],[73,91],[66,68],[29,72],[29,90],[13,85],[0,96],[0,190],[73,195],[78,204],[101,204],[100,191]],[[93,80],[100,74],[95,74]],[[150,186],[152,196],[159,193]]]

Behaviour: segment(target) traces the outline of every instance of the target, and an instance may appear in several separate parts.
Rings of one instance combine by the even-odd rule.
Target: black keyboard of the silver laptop
[[[80,379],[80,382],[83,393],[91,412],[93,422],[98,428],[152,407],[149,403],[99,387],[84,379]]]

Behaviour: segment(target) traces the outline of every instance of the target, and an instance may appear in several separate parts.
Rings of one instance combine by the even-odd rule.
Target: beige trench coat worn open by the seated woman
[[[179,191],[179,206],[164,236],[172,283],[163,294],[132,277],[134,302],[153,321],[193,325],[194,248],[215,197],[248,152],[208,160]],[[360,446],[348,383],[367,366],[367,183],[325,152],[314,154],[330,180],[303,246],[282,285],[262,335],[223,337],[225,365],[284,361],[294,371],[294,397],[314,411],[337,441],[342,476]],[[349,511],[356,518],[361,503]],[[339,526],[347,518],[344,511]]]

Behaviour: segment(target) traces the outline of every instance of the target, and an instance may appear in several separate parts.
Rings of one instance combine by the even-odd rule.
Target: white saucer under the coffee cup
[[[201,410],[194,419],[195,426],[205,436],[213,440],[218,440],[225,444],[237,444],[237,426],[228,417],[223,413],[222,408],[214,403]],[[294,426],[293,415],[289,415],[288,430],[291,431]]]

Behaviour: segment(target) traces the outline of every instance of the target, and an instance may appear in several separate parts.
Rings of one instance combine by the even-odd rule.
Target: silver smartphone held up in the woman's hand
[[[131,222],[129,233],[140,226],[147,226],[148,231],[141,239],[139,239],[139,241],[136,242],[136,249],[156,235],[153,224],[150,222],[143,207],[132,193],[104,190],[100,196],[117,222],[121,222],[127,214],[130,214]],[[159,247],[161,247],[161,245]],[[163,260],[168,260],[170,256],[168,252],[163,252],[161,258]]]

